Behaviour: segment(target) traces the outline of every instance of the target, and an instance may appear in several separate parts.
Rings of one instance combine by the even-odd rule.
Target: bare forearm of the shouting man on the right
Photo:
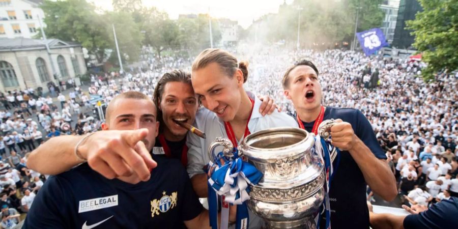
[[[349,152],[369,187],[386,201],[392,201],[397,195],[396,182],[386,161],[376,158],[359,138]]]

